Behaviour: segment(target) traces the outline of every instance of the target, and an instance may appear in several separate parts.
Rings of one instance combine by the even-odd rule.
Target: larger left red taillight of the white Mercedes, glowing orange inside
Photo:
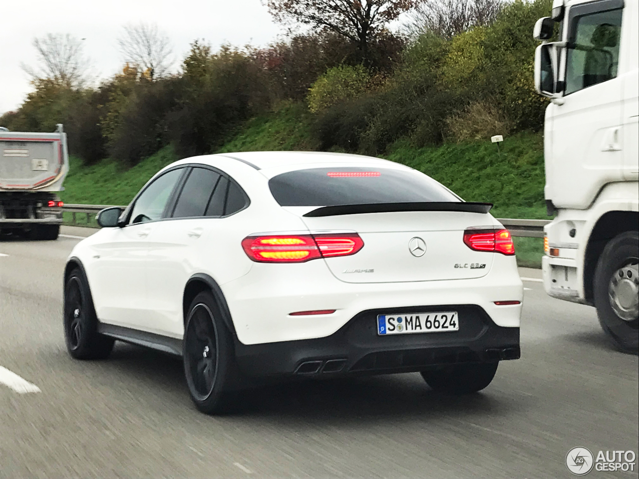
[[[364,241],[357,233],[249,236],[242,240],[245,253],[258,262],[304,262],[347,256],[363,246]]]

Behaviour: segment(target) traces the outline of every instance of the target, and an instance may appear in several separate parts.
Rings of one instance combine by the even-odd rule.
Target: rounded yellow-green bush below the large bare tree
[[[309,91],[309,109],[326,110],[337,102],[358,98],[366,92],[371,76],[364,66],[340,65],[330,68],[312,84]]]

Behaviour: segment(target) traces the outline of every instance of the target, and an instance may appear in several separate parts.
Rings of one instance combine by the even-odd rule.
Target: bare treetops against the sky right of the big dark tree
[[[502,0],[429,0],[420,4],[406,24],[410,36],[427,31],[450,39],[472,27],[491,24]]]

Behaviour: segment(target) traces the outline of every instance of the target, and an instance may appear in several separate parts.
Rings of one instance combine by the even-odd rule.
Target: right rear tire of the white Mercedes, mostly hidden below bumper
[[[422,371],[422,377],[435,391],[470,394],[481,391],[493,381],[497,362],[456,364],[433,371]]]

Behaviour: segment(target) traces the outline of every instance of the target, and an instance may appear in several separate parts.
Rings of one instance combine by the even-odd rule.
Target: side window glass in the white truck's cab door
[[[622,11],[597,11],[571,20],[566,95],[617,77]]]

